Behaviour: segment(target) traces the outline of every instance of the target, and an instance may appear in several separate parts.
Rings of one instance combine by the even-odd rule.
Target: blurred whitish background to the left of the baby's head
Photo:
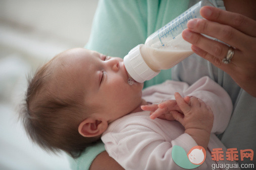
[[[88,41],[95,0],[0,0],[0,169],[70,169],[30,142],[18,121],[26,75]]]

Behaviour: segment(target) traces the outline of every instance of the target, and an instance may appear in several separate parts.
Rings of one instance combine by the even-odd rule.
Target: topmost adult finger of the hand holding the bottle
[[[206,18],[207,20],[229,25],[247,35],[254,37],[256,36],[256,22],[243,15],[209,6],[202,7],[200,9],[200,14],[203,18]]]

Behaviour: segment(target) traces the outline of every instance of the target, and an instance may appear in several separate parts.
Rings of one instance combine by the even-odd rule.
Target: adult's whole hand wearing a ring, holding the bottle
[[[247,93],[256,97],[256,21],[243,15],[203,7],[204,19],[188,21],[183,38],[192,44],[192,50],[202,58],[229,74]],[[229,64],[222,63],[229,46],[201,34],[217,38],[234,47]]]

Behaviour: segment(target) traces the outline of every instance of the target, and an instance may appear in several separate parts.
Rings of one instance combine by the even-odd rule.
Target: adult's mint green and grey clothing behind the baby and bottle
[[[196,0],[100,0],[95,13],[92,32],[85,48],[110,56],[124,56],[147,36],[186,11]],[[225,9],[223,1],[212,0],[218,8]],[[170,70],[144,83],[144,87],[159,84],[168,79],[192,84],[202,76],[209,76],[230,95],[234,110],[226,131],[219,136],[227,148],[252,149],[256,152],[256,98],[247,94],[229,75],[210,62],[192,54]],[[70,158],[72,169],[89,169],[93,159],[102,151],[104,144],[88,147],[82,155]],[[224,151],[225,154],[225,151]],[[224,156],[225,157],[225,156]],[[254,163],[241,161],[239,163]]]

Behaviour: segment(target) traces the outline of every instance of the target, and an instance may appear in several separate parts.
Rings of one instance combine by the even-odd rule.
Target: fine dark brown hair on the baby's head
[[[64,91],[65,97],[56,94],[55,88],[63,79],[52,78],[54,60],[39,68],[32,79],[28,78],[20,119],[28,137],[40,147],[54,153],[64,150],[75,158],[98,137],[85,138],[78,132],[80,122],[88,117],[84,93]]]

